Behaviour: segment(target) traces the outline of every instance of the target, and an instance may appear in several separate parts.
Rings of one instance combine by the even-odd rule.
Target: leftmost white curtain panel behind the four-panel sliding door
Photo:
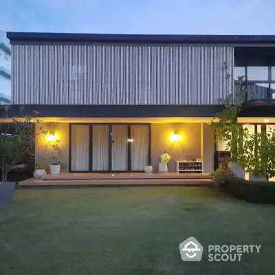
[[[89,125],[72,125],[72,171],[89,170]]]

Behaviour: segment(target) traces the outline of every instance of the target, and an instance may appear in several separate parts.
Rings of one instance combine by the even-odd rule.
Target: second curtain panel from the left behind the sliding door
[[[109,170],[109,125],[93,125],[93,170]]]

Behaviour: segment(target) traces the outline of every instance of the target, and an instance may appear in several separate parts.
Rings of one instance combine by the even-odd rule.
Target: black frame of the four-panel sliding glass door
[[[72,125],[89,125],[89,170],[87,171],[74,171],[72,170]],[[93,125],[109,125],[109,170],[93,171]],[[144,170],[131,170],[131,142],[128,142],[128,170],[111,170],[112,159],[112,126],[113,125],[126,125],[128,128],[128,139],[131,139],[131,126],[132,125],[147,125],[148,133],[148,165],[151,164],[151,123],[69,123],[69,173],[141,173]]]

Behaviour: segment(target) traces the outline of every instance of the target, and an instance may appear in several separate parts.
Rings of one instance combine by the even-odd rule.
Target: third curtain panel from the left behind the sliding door
[[[128,170],[128,126],[112,126],[112,170]]]

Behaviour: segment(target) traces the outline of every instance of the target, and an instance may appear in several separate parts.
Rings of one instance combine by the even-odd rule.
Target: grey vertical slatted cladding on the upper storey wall
[[[233,47],[12,45],[12,104],[221,104],[233,65]]]

